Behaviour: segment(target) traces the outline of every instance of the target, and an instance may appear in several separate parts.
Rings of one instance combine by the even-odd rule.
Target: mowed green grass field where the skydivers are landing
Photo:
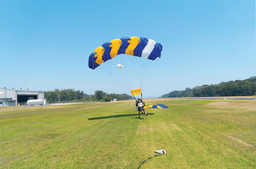
[[[256,168],[255,101],[145,101],[0,108],[0,168]]]

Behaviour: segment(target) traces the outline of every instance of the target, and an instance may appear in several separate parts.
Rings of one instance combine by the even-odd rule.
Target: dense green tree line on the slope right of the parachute
[[[182,91],[173,91],[162,95],[166,97],[214,97],[214,96],[252,96],[256,95],[256,76],[245,80],[221,82],[220,84],[204,84]]]

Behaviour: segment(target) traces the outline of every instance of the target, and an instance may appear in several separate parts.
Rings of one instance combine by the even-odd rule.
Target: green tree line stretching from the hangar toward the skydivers
[[[45,98],[47,102],[53,103],[58,102],[60,96],[61,102],[70,102],[70,101],[111,101],[113,99],[128,100],[133,99],[132,96],[127,94],[115,94],[115,93],[106,93],[100,90],[94,92],[94,94],[88,95],[83,91],[75,91],[74,89],[55,89],[54,91],[45,92]]]

